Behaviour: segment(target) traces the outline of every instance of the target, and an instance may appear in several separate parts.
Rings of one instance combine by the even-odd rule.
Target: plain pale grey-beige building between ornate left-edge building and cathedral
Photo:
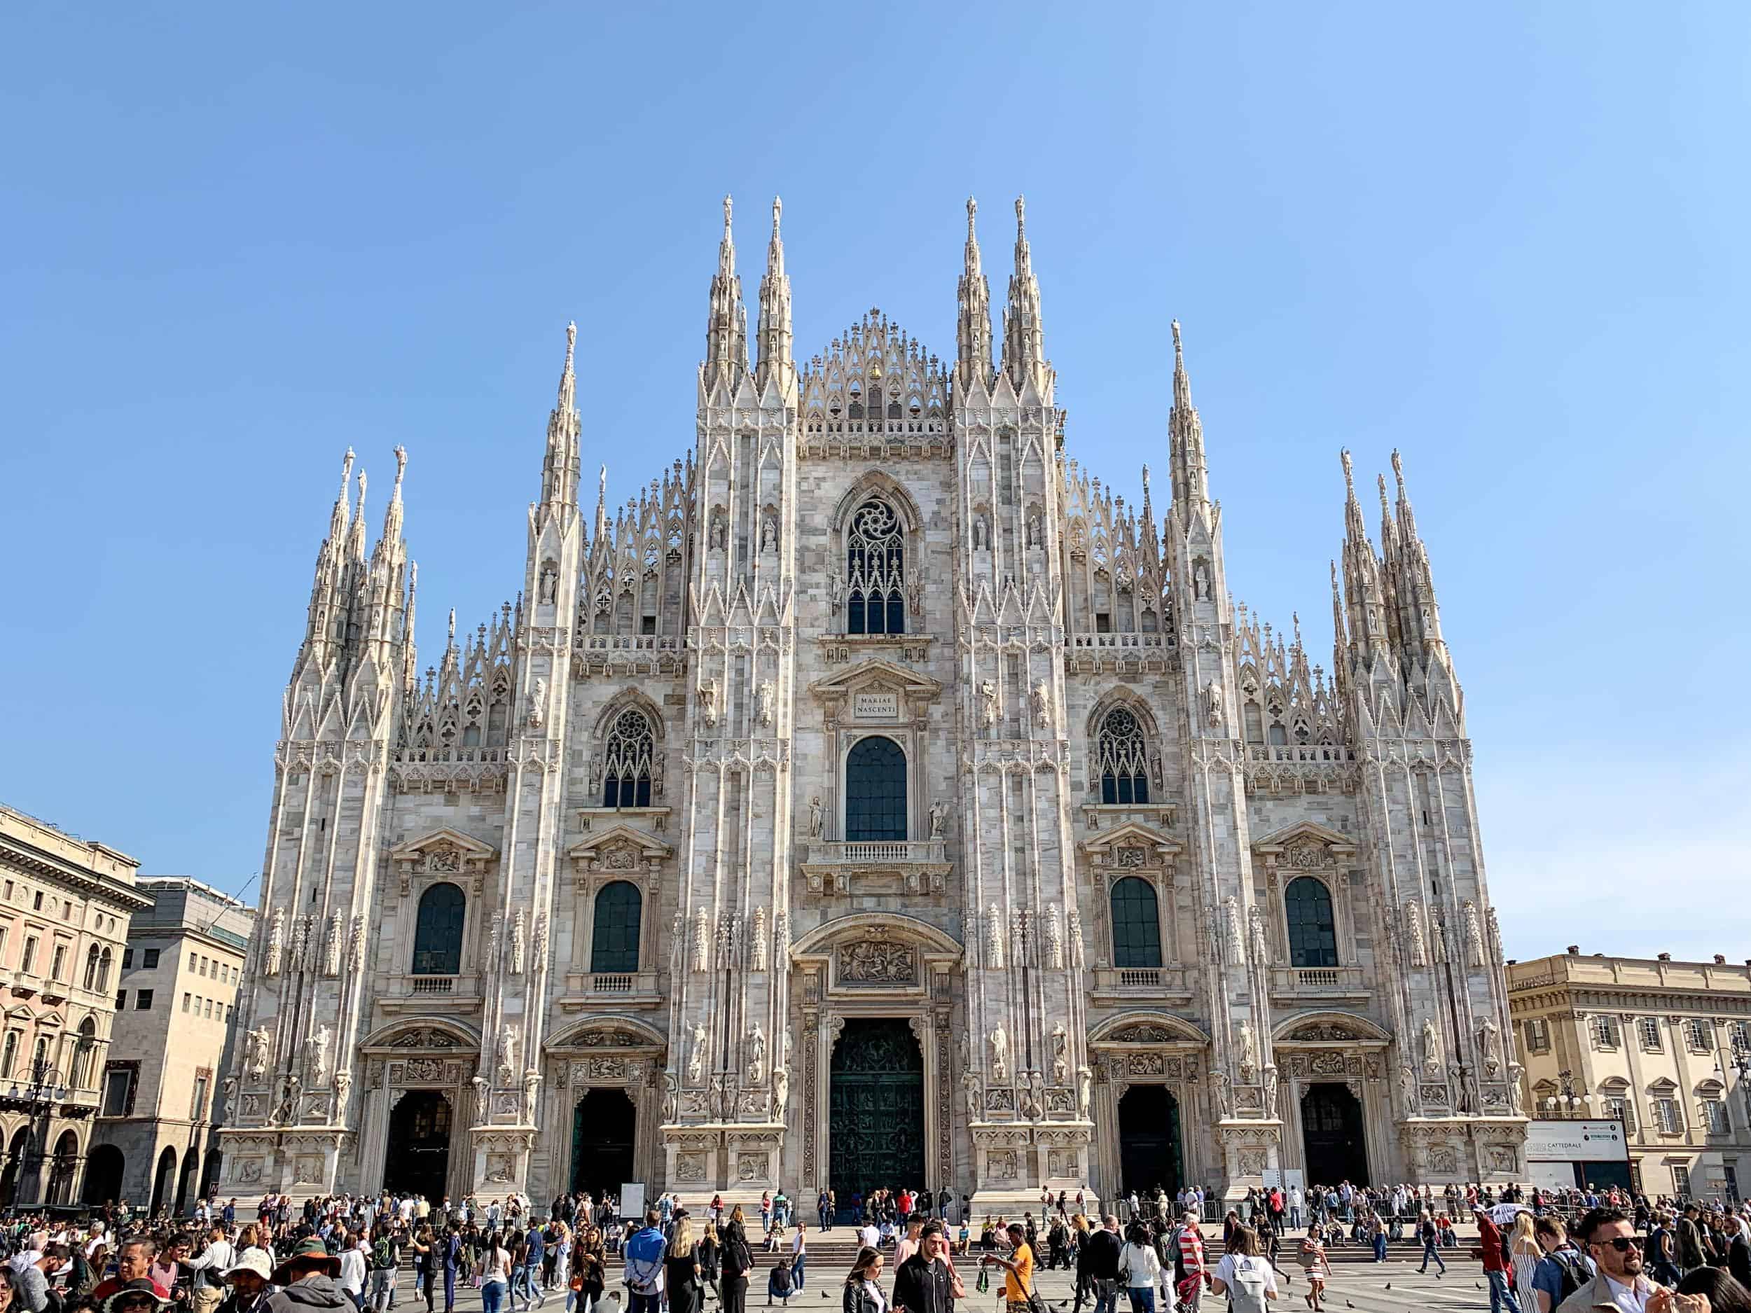
[[[217,1180],[219,1082],[256,914],[200,881],[149,877],[138,889],[151,902],[121,961],[116,1007],[128,1019],[103,1066],[86,1199],[182,1213]]]

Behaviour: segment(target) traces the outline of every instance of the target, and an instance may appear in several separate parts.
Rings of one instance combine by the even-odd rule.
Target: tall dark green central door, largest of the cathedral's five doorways
[[[853,1194],[923,1189],[925,1054],[904,1017],[853,1017],[833,1049],[828,1185]]]

